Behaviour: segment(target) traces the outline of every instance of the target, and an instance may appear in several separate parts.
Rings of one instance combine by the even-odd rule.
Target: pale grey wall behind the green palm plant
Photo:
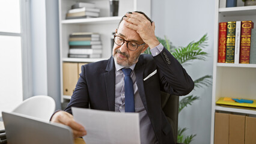
[[[176,47],[187,46],[207,33],[209,57],[184,68],[194,80],[212,75],[215,0],[152,0],[151,18],[156,23],[156,35],[162,38],[166,35]],[[187,135],[197,134],[192,144],[210,143],[212,86],[192,93],[200,100],[180,112],[179,127],[187,127]]]

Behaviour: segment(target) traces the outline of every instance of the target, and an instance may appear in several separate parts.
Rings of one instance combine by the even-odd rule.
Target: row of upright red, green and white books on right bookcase
[[[218,62],[256,64],[255,41],[251,20],[219,23]]]

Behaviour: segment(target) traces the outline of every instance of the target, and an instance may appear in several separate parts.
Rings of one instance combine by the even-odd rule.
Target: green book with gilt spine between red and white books
[[[234,63],[234,48],[236,38],[236,22],[228,22],[227,25],[227,46],[226,46],[226,63]]]

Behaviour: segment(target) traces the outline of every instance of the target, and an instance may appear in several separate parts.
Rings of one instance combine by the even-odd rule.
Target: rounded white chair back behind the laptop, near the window
[[[55,111],[55,101],[46,95],[30,97],[17,106],[13,112],[49,121]]]

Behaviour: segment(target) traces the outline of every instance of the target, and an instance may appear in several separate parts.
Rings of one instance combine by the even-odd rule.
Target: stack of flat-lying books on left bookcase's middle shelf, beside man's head
[[[94,32],[73,32],[69,38],[69,58],[101,58],[102,41]]]

